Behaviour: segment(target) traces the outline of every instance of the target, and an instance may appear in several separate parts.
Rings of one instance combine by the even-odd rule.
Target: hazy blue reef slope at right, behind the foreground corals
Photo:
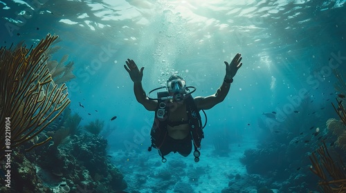
[[[311,102],[312,99],[308,97],[302,99],[300,106],[292,110],[291,114],[282,115],[277,112],[273,113],[273,117],[262,116],[259,119],[262,137],[259,138],[257,148],[246,150],[240,161],[248,174],[273,179],[263,186],[274,187],[280,192],[316,190],[318,178],[309,172],[307,165],[311,163],[308,155],[323,141],[331,147],[338,145],[338,142],[335,142],[336,136],[331,134],[331,130],[323,128],[325,119],[322,117],[329,117],[333,110],[330,108],[329,114],[323,114]],[[334,133],[343,133],[343,126],[340,124],[343,122],[333,122],[329,128],[338,125]],[[279,183],[280,185],[275,185]]]

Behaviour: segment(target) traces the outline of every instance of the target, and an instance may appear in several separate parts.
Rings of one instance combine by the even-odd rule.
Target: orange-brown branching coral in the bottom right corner
[[[342,159],[339,163],[334,161],[325,143],[316,152],[318,156],[313,152],[309,157],[312,163],[310,170],[322,179],[318,185],[323,192],[346,192],[346,169]]]

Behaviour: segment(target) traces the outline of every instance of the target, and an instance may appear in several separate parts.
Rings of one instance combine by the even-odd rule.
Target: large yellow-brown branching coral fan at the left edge
[[[57,86],[46,65],[48,57],[44,52],[56,39],[57,36],[48,34],[36,48],[28,49],[25,45],[0,48],[1,141],[10,134],[10,145],[0,145],[0,159],[5,149],[15,148],[37,136],[70,103],[66,85]],[[8,131],[5,130],[6,118],[10,119]]]

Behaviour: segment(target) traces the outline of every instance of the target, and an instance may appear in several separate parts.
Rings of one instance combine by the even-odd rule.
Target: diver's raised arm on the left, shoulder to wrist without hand
[[[157,101],[149,100],[147,94],[142,86],[142,82],[134,82],[134,95],[138,103],[141,103],[145,109],[154,111],[156,110]]]

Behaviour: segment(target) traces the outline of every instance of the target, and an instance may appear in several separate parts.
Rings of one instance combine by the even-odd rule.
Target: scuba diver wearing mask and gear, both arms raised
[[[188,156],[192,152],[194,145],[194,161],[199,161],[201,149],[201,139],[203,139],[203,128],[200,110],[208,110],[217,103],[221,103],[226,98],[230,83],[233,83],[233,77],[242,67],[241,54],[237,53],[233,60],[226,64],[226,76],[220,88],[215,94],[210,96],[197,96],[192,98],[192,92],[196,88],[186,86],[183,78],[172,75],[167,80],[167,86],[156,88],[146,94],[143,86],[144,67],[138,69],[136,63],[127,59],[124,68],[129,72],[129,76],[134,81],[134,94],[138,103],[142,104],[145,109],[155,112],[154,123],[150,132],[152,148],[158,150],[162,157],[162,162],[167,161],[165,155],[170,152],[179,152],[182,156]],[[157,92],[157,98],[152,98],[150,94],[154,91],[165,89],[163,92]],[[190,89],[192,89],[190,91]],[[204,111],[203,111],[204,112]]]

